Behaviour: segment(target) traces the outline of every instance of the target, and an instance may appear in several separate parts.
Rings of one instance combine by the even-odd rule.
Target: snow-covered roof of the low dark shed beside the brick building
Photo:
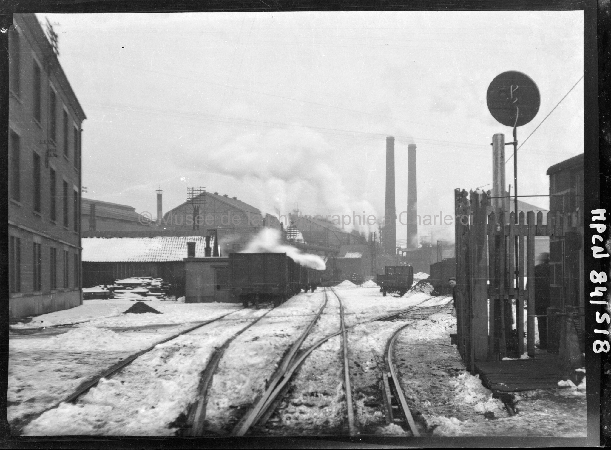
[[[209,244],[207,238],[210,238]],[[214,247],[214,236],[82,238],[82,260],[90,263],[182,261],[187,257],[187,242],[196,242],[195,256],[203,258],[207,245]]]

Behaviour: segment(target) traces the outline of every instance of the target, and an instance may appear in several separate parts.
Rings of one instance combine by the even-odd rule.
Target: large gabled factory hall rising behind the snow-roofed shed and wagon
[[[263,227],[281,230],[276,216],[265,214],[236,197],[203,192],[166,212],[158,223],[166,230],[216,230],[224,254],[240,252]]]

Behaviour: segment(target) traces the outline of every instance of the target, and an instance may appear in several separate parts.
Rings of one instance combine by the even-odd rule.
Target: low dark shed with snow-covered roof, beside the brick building
[[[194,244],[194,258],[219,255],[216,236],[155,236],[150,238],[82,238],[84,287],[112,285],[117,278],[163,278],[170,295],[185,295],[185,261]]]

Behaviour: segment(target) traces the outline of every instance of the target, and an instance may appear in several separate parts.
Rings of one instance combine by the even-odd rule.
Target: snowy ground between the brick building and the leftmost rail
[[[19,427],[24,419],[62,401],[82,382],[123,358],[197,322],[241,309],[241,305],[231,303],[152,303],[164,314],[106,314],[109,309],[125,310],[133,305],[133,302],[124,302],[123,305],[111,303],[109,307],[97,308],[102,314],[92,317],[87,311],[89,305],[84,305],[84,308],[73,310],[84,309],[86,323],[67,328],[31,328],[34,333],[28,335],[12,333],[7,393],[7,416],[12,426]],[[73,310],[52,314],[56,322],[69,323],[78,317]],[[64,313],[64,317],[60,313]],[[117,327],[123,327],[122,331],[112,330]]]

